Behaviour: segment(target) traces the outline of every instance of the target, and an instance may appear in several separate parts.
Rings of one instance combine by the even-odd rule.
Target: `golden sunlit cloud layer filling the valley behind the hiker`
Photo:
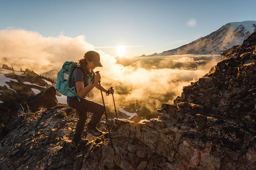
[[[0,64],[13,66],[15,70],[28,68],[51,78],[56,78],[57,71],[65,61],[77,61],[86,51],[95,50],[83,35],[75,38],[64,35],[43,37],[37,32],[23,29],[0,30],[0,44]],[[198,80],[216,64],[205,64],[197,69],[183,69],[182,66],[169,68],[169,65],[175,63],[186,67],[185,64],[191,59],[184,56],[161,61],[159,64],[162,67],[159,69],[145,68],[143,62],[124,67],[117,64],[114,57],[100,50],[95,51],[100,54],[103,67],[94,71],[100,71],[104,88],[112,86],[115,89],[116,107],[128,112],[142,108],[143,114],[155,114],[156,108],[160,108],[162,103],[173,103],[173,99],[181,94],[182,86]],[[98,90],[93,89],[89,96],[102,103]],[[112,97],[104,96],[104,100],[112,112]]]

